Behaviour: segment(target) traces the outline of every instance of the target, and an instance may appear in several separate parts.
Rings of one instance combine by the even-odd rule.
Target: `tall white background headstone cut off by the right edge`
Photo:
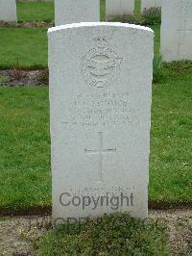
[[[161,19],[162,60],[192,60],[192,0],[164,0]]]

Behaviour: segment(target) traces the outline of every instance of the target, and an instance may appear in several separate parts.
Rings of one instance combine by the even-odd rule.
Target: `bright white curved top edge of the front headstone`
[[[154,33],[154,31],[151,28],[134,25],[130,23],[121,23],[121,22],[81,22],[81,23],[71,23],[66,25],[61,25],[57,27],[53,27],[48,29],[48,34],[53,32],[58,32],[61,30],[67,30],[67,29],[75,29],[75,28],[85,28],[85,27],[119,27],[119,28],[131,28],[136,29],[140,31],[146,31],[150,33]]]

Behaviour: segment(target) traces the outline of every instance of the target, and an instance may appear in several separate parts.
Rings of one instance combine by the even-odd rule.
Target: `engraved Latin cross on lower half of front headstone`
[[[103,141],[104,141],[104,134],[103,132],[99,132],[99,149],[89,150],[84,149],[84,154],[92,154],[92,155],[99,155],[99,178],[98,182],[103,181],[103,154],[109,154],[109,153],[116,153],[116,148],[108,148],[103,149]]]

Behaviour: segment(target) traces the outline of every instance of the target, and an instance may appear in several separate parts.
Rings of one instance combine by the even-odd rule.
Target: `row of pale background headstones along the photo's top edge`
[[[192,1],[143,0],[142,9],[162,1],[161,56],[166,62],[192,60]],[[107,0],[109,15],[132,13],[133,0]],[[132,7],[132,8],[131,8]],[[99,0],[55,0],[56,25],[100,21]],[[15,0],[0,0],[0,20],[16,20]]]

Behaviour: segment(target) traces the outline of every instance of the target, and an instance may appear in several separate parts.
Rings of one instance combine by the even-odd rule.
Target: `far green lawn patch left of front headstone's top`
[[[47,66],[47,29],[0,28],[0,67]]]

